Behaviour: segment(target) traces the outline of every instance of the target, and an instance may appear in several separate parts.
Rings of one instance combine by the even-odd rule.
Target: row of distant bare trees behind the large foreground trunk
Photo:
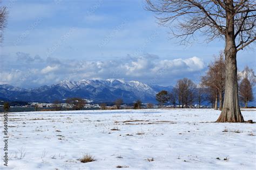
[[[240,103],[245,108],[248,102],[254,100],[253,87],[256,83],[256,78],[253,69],[248,66],[242,72],[238,72],[238,91]],[[176,86],[170,91],[160,91],[156,95],[156,100],[159,106],[170,102],[173,107],[178,105],[179,108],[191,107],[193,103],[197,103],[199,108],[201,103],[207,101],[212,104],[215,110],[222,110],[223,97],[225,94],[225,61],[224,54],[220,52],[218,57],[215,57],[214,62],[210,63],[208,70],[201,77],[201,82],[195,84],[192,80],[184,78],[177,81]]]

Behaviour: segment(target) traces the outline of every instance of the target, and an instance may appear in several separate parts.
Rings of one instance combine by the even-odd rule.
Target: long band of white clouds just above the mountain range
[[[38,55],[19,52],[11,60],[0,75],[0,84],[21,87],[38,87],[62,80],[110,78],[171,85],[181,77],[195,79],[205,69],[204,61],[196,56],[161,60],[156,55],[145,54],[136,57],[127,55],[116,60],[78,61],[50,57],[42,59]]]

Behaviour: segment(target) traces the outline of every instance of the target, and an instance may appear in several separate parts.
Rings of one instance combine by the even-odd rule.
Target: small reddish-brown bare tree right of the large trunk
[[[252,85],[247,78],[242,79],[239,86],[240,100],[245,103],[245,108],[248,107],[248,102],[253,101]]]

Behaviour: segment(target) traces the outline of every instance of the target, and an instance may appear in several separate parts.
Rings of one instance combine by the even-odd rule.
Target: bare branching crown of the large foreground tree
[[[157,13],[159,24],[170,26],[181,44],[194,40],[195,33],[206,41],[225,39],[228,25],[234,25],[238,51],[255,40],[255,1],[245,0],[146,0],[146,9]],[[232,15],[227,18],[227,13]],[[228,16],[229,17],[229,16]],[[232,22],[232,23],[231,23]]]

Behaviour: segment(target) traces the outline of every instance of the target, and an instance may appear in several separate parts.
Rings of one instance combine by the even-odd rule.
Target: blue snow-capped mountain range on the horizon
[[[68,97],[82,97],[95,102],[113,102],[123,98],[131,103],[138,99],[143,102],[155,103],[155,95],[160,90],[171,90],[172,87],[149,86],[138,81],[80,80],[61,81],[51,86],[23,89],[8,84],[0,85],[0,100],[52,102],[64,100]]]

